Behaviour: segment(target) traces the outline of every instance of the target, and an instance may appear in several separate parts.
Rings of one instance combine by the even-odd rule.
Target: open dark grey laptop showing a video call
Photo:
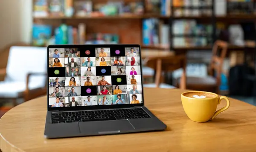
[[[164,130],[145,106],[140,45],[49,45],[45,138]]]

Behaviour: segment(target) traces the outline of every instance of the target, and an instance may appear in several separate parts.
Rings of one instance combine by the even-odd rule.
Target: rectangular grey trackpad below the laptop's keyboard
[[[127,119],[79,122],[79,128],[81,133],[95,132],[98,134],[113,134],[122,131],[134,130],[134,127]]]

